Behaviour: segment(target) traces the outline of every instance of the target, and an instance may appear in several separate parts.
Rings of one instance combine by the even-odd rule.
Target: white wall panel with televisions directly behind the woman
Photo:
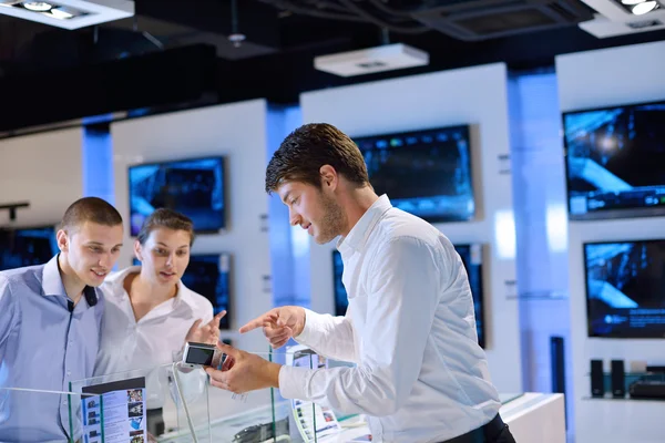
[[[264,192],[267,148],[267,104],[263,100],[234,103],[127,120],[113,123],[115,203],[125,218],[125,243],[121,267],[133,258],[134,239],[129,230],[127,166],[223,155],[225,157],[227,229],[200,235],[192,254],[232,254],[232,329],[223,332],[234,344],[249,351],[267,351],[258,332],[239,336],[237,328],[273,306],[264,276],[270,274],[267,222],[268,199]],[[262,227],[264,229],[262,229]]]

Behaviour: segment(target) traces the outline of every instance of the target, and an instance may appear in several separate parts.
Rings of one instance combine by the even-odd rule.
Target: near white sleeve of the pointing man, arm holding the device
[[[400,409],[418,380],[439,302],[442,261],[437,254],[412,237],[379,248],[368,272],[368,318],[358,367],[284,367],[282,395],[372,416]]]

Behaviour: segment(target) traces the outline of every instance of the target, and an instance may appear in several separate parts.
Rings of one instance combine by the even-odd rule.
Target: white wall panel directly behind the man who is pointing
[[[518,302],[514,287],[515,245],[510,174],[500,174],[510,153],[507,71],[504,64],[406,76],[305,93],[304,122],[326,122],[350,136],[471,124],[474,189],[479,218],[437,225],[453,243],[483,243],[485,254],[485,324],[492,380],[503,392],[520,391]],[[508,158],[508,157],[507,157]],[[310,241],[311,307],[332,312],[335,244]]]

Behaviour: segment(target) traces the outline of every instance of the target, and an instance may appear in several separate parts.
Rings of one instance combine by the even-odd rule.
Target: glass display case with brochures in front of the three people
[[[349,365],[299,346],[256,354],[310,369]],[[0,396],[8,392],[12,401],[25,404],[55,401],[62,429],[69,441],[76,443],[349,442],[362,441],[369,434],[364,415],[284,399],[277,389],[236,395],[212,387],[202,368],[182,363],[72,381],[69,392],[6,388],[0,389]],[[501,400],[507,403],[520,395],[504,394]],[[11,410],[10,420],[27,420],[17,418],[21,413],[24,414]],[[22,432],[20,441],[35,441],[30,435],[33,430],[27,427]]]

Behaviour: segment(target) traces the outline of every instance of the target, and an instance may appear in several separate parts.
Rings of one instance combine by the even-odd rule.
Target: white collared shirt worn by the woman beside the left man
[[[94,369],[95,375],[135,369],[151,369],[172,363],[183,349],[185,337],[195,320],[202,326],[213,319],[213,305],[203,296],[177,284],[176,296],[154,307],[139,321],[124,280],[141,267],[133,266],[106,278],[101,289],[106,307],[102,321],[102,340]],[[202,372],[205,382],[205,372]],[[187,382],[192,377],[187,374]],[[147,408],[161,408],[167,388],[167,372],[151,373],[146,379]],[[198,377],[197,379],[200,379]]]

